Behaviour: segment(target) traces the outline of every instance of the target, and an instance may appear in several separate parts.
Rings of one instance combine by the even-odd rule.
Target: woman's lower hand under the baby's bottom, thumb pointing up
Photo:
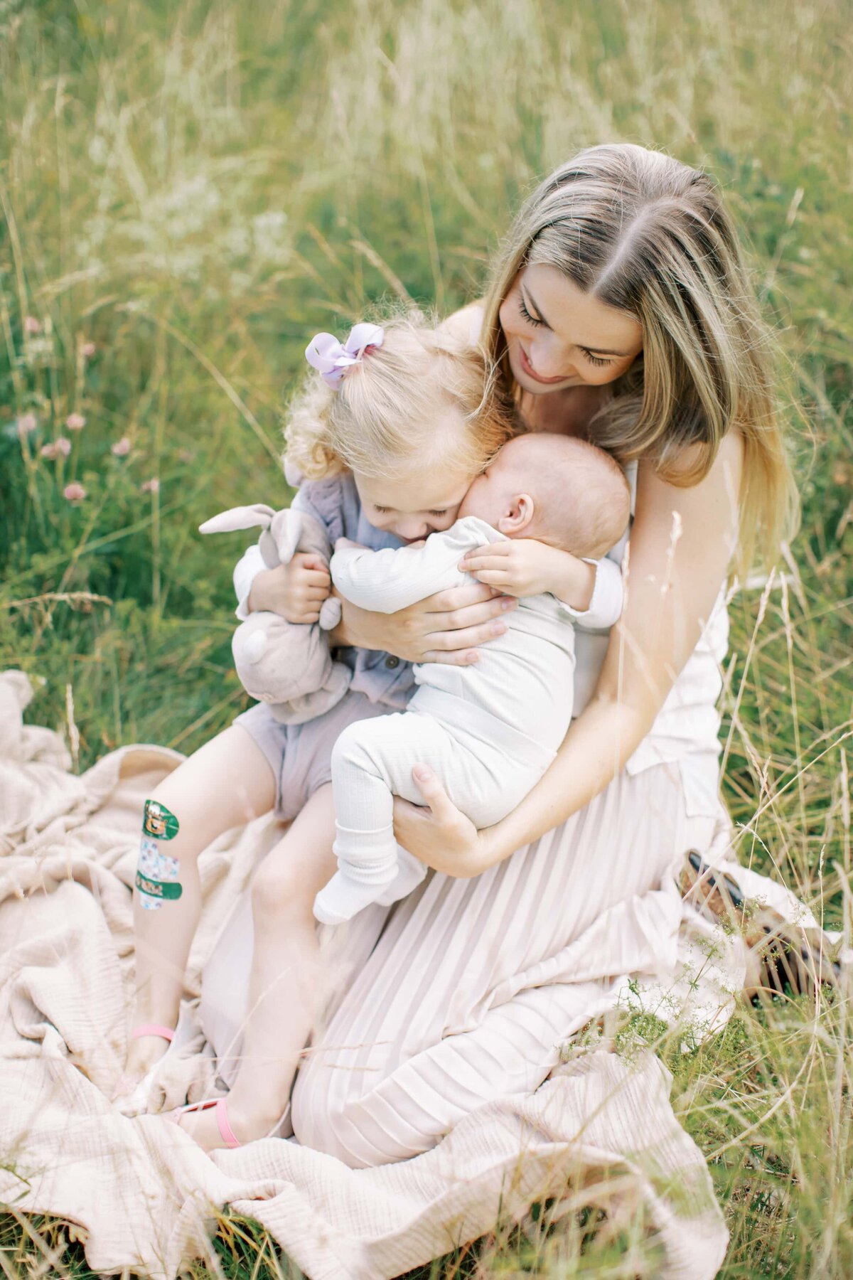
[[[491,828],[477,831],[450,801],[432,769],[416,764],[412,777],[428,808],[394,797],[394,835],[404,849],[427,867],[462,879],[480,876],[499,860],[490,847]]]

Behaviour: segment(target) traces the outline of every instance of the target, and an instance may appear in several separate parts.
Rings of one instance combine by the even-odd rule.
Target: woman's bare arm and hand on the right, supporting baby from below
[[[737,541],[742,442],[730,435],[706,476],[680,489],[639,467],[625,609],[590,705],[536,787],[476,832],[428,771],[414,777],[430,809],[395,806],[399,842],[450,876],[477,876],[559,827],[624,767],[652,726],[708,618]]]

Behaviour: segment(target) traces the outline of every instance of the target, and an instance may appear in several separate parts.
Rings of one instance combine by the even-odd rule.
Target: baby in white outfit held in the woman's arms
[[[394,503],[393,485],[377,503]],[[486,543],[532,538],[583,559],[607,552],[630,508],[625,477],[601,449],[572,436],[520,435],[466,493],[455,524],[426,541],[368,550],[336,543],[331,576],[363,609],[394,613],[472,581],[459,561]],[[618,575],[602,586],[601,625],[622,611]],[[327,924],[348,920],[370,902],[404,897],[426,874],[394,840],[393,803],[421,801],[416,764],[444,780],[453,803],[476,827],[499,822],[545,773],[572,718],[574,628],[552,595],[519,602],[503,636],[476,666],[423,663],[407,710],[350,724],[331,756],[338,872],[315,899]]]

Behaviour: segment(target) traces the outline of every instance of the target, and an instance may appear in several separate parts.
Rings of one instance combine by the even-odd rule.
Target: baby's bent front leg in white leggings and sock
[[[448,730],[413,712],[352,724],[340,735],[331,756],[338,872],[317,895],[318,920],[340,924],[371,902],[404,897],[423,879],[423,864],[394,838],[394,796],[419,799],[412,782],[418,763],[453,780],[458,756]]]

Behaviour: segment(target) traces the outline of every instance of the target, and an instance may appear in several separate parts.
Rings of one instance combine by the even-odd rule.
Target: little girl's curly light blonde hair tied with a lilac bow
[[[306,378],[285,430],[288,463],[308,480],[347,470],[391,480],[435,467],[478,475],[518,429],[503,379],[481,348],[417,314],[382,329],[381,347],[368,348],[336,388],[317,372]]]

